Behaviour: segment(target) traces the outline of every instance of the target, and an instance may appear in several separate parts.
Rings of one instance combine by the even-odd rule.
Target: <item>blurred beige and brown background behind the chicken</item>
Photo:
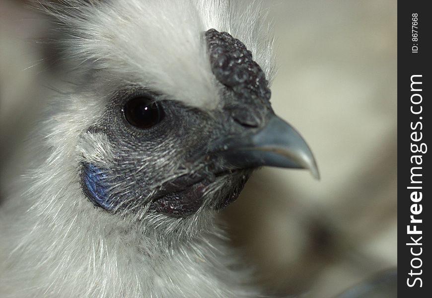
[[[221,217],[267,292],[331,298],[397,265],[397,2],[266,5],[277,38],[273,107],[308,142],[321,180],[263,168]],[[41,30],[23,1],[0,0],[3,177],[44,98],[29,40]]]

